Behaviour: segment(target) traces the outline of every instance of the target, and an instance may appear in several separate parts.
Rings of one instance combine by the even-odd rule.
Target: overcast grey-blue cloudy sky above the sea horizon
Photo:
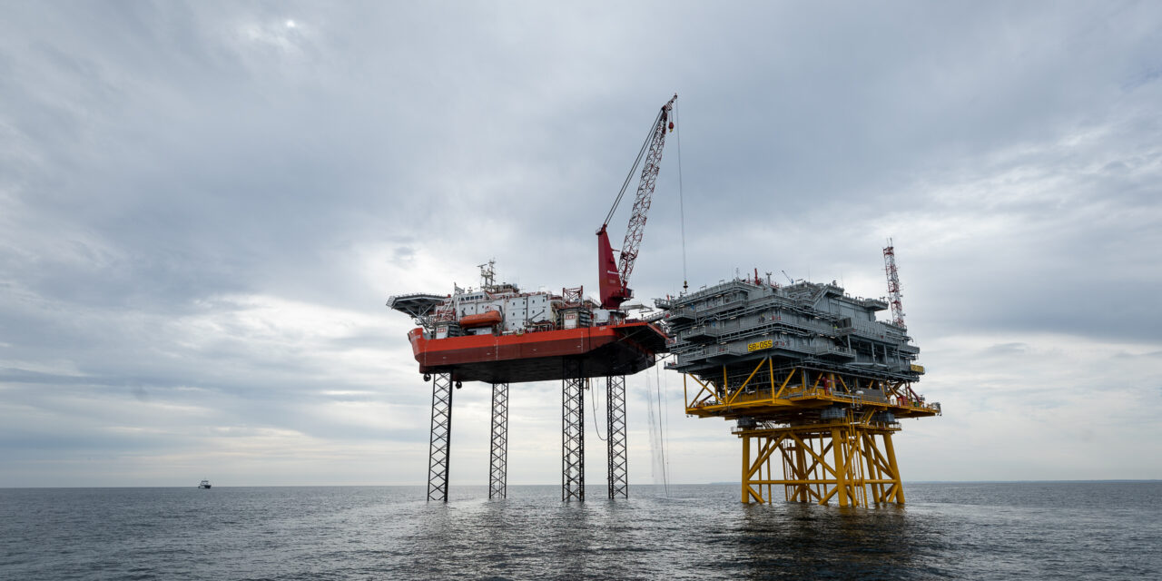
[[[639,297],[682,285],[680,141],[694,287],[882,296],[895,238],[945,410],[904,422],[905,480],[1162,478],[1156,2],[0,12],[0,486],[423,483],[430,386],[386,299],[489,258],[595,290],[675,92]],[[670,481],[737,479],[730,424],[650,371],[631,482],[660,479],[659,388]],[[560,482],[560,386],[511,397],[509,482]],[[487,483],[489,401],[456,393],[453,485]]]

